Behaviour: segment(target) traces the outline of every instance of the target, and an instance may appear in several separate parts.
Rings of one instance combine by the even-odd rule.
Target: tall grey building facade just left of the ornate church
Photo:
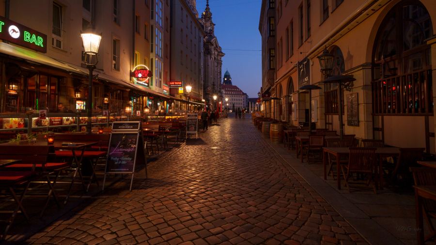
[[[192,87],[190,93],[179,95],[177,88],[171,93],[189,99],[191,105],[203,105],[203,38],[205,36],[198,19],[196,2],[171,1],[171,81],[182,81],[183,87]]]

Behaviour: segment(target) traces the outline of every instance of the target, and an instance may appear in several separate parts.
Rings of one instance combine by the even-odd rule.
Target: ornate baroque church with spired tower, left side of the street
[[[206,1],[206,8],[202,13],[200,19],[202,23],[203,30],[206,33],[203,43],[203,53],[204,53],[204,86],[203,94],[207,105],[214,105],[215,101],[213,96],[218,97],[217,101],[221,101],[221,68],[222,68],[222,57],[224,53],[218,44],[218,39],[215,36],[215,24],[212,21],[212,12],[209,8],[209,0]],[[213,108],[216,108],[213,107]]]

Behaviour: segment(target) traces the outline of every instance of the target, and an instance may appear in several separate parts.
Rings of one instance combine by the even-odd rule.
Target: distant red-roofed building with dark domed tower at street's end
[[[232,77],[229,71],[224,73],[221,85],[223,108],[234,110],[248,108],[248,96],[238,86],[232,85]],[[227,101],[226,101],[227,98]]]

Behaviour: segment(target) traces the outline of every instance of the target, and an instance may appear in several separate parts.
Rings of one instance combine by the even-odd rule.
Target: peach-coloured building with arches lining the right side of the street
[[[345,134],[435,153],[433,1],[276,0],[275,13],[276,118],[297,125],[311,113],[318,128],[339,129],[337,84],[320,82],[327,49],[330,75],[356,79],[343,91]],[[322,89],[309,98],[305,84]]]

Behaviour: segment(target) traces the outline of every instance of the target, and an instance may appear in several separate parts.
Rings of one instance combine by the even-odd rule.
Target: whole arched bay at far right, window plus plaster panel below
[[[420,1],[403,0],[383,18],[372,57],[374,138],[389,145],[434,151],[430,147],[434,134],[429,133],[429,122],[433,122],[431,54],[425,41],[431,36],[430,15]]]

